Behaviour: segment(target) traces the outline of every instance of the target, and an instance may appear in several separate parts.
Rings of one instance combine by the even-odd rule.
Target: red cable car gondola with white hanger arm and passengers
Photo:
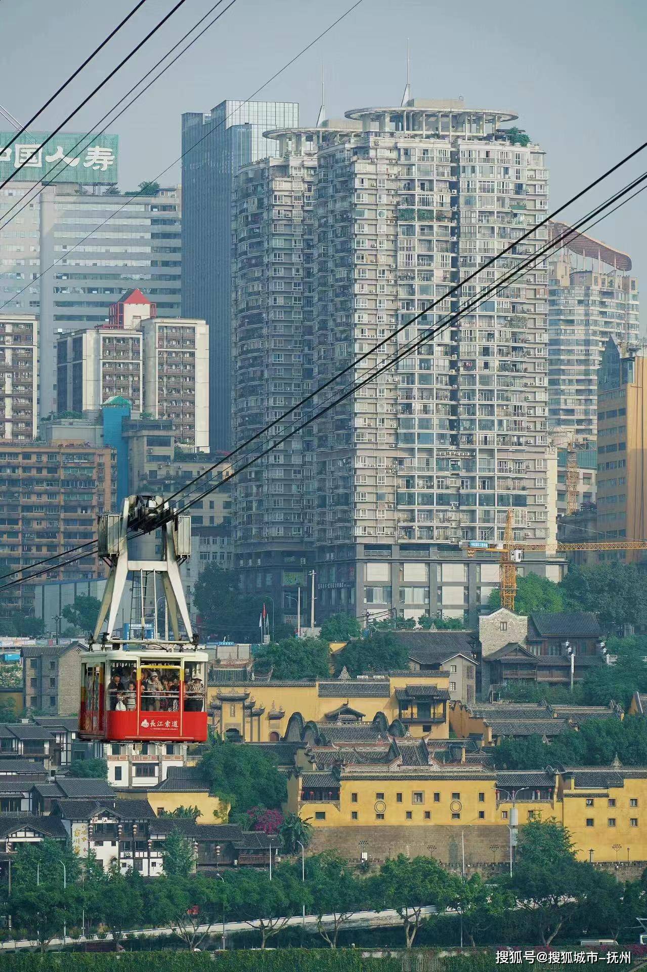
[[[162,559],[128,560],[128,531],[161,529]],[[99,517],[99,553],[111,565],[99,616],[81,656],[79,736],[110,742],[203,743],[207,739],[206,651],[196,647],[179,564],[190,555],[190,517],[159,497],[128,497],[121,514]],[[141,625],[146,635],[145,575],[151,577],[153,638],[113,634],[129,572],[140,576]],[[171,638],[157,636],[156,575],[162,582]],[[150,613],[149,613],[150,616]],[[104,622],[108,630],[101,634]],[[186,632],[182,637],[180,622]]]

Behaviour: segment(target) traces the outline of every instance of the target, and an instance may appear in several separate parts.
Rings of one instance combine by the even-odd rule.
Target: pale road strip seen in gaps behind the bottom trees
[[[436,909],[430,905],[426,905],[422,909],[422,915],[426,917],[427,915],[435,915]],[[332,915],[323,916],[324,925],[332,925],[333,917]],[[380,927],[392,927],[393,925],[398,925],[401,923],[401,919],[396,911],[392,908],[380,912],[363,911],[354,912],[348,921],[344,922],[344,928],[380,928]],[[316,928],[317,927],[317,916],[316,915],[306,915],[303,918],[301,915],[295,915],[293,918],[289,918],[286,922],[285,927],[300,927],[303,924],[306,928]],[[258,927],[257,921],[225,921],[224,923],[224,937],[225,941],[229,935],[235,935],[241,931],[250,931]],[[205,932],[211,928],[212,935],[222,934],[222,922],[215,921],[211,925],[201,924],[198,926],[198,932]],[[124,932],[125,936],[136,934],[138,938],[159,938],[164,935],[170,935],[173,933],[173,929],[166,926],[160,928],[131,928],[129,931]],[[104,941],[111,941],[112,935],[110,932],[106,935]],[[69,936],[65,939],[65,943],[60,938],[52,938],[49,948],[51,950],[57,951],[63,947],[63,944],[71,945],[88,941],[97,941],[96,935],[92,935],[88,938],[75,938],[71,939]],[[0,943],[0,951],[3,952],[17,952],[23,949],[35,949],[38,947],[38,942],[23,938],[16,942],[7,941]]]

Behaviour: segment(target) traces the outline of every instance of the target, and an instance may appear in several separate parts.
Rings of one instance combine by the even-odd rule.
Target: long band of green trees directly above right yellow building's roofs
[[[647,764],[647,720],[640,716],[593,719],[566,730],[551,743],[540,736],[503,740],[493,752],[496,769],[531,770],[538,766],[609,766],[618,756],[623,766]]]

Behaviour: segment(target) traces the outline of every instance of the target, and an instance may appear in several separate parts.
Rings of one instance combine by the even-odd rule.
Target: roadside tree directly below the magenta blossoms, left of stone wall
[[[265,871],[238,871],[232,882],[235,898],[231,902],[234,914],[260,932],[260,948],[278,935],[303,905],[310,905],[308,886],[301,882],[289,864],[274,871],[272,881]]]

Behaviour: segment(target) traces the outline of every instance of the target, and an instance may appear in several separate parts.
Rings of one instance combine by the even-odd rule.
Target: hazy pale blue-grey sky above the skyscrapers
[[[98,121],[213,2],[187,0],[67,130],[85,131]],[[249,97],[352,2],[236,0],[109,129],[120,136],[121,188],[155,178],[180,155],[183,112],[208,111],[224,98]],[[133,4],[0,3],[0,103],[18,120],[29,118]],[[50,130],[62,121],[173,5],[173,0],[147,0],[33,127]],[[519,125],[547,152],[551,208],[647,140],[645,0],[362,0],[258,98],[298,101],[301,121],[314,124],[323,62],[329,117],[349,108],[397,105],[405,83],[407,37],[415,97],[462,95],[467,106],[519,114]],[[647,150],[563,218],[576,220],[643,170]],[[162,181],[178,178],[176,167]],[[643,308],[646,218],[647,191],[592,230],[630,253],[646,294]],[[647,320],[644,310],[642,317]]]

